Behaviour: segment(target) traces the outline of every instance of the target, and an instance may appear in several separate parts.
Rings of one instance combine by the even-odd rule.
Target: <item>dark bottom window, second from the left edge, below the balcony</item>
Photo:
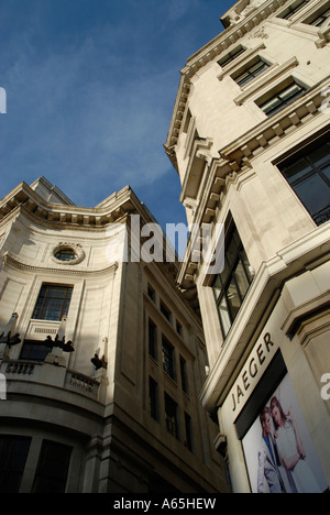
[[[32,493],[65,493],[72,447],[44,440]]]

